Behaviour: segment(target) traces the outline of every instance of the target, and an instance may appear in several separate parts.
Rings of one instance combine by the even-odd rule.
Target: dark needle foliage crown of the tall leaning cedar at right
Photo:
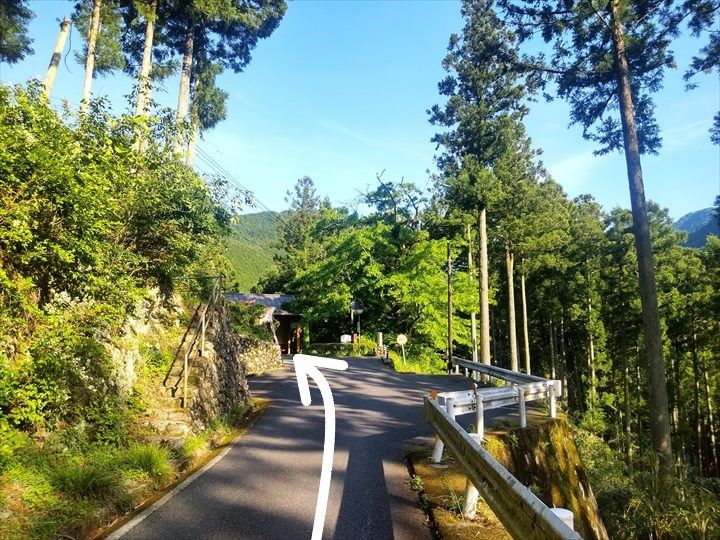
[[[572,123],[599,143],[599,154],[623,148],[612,35],[613,24],[622,25],[640,153],[657,152],[661,139],[650,94],[674,62],[669,47],[680,21],[676,6],[663,0],[628,2],[618,8],[616,19],[610,4],[598,9],[590,0],[568,8],[554,0],[500,5],[521,41],[542,38],[551,44],[551,55],[538,53],[525,65],[557,84],[557,94],[570,104]],[[573,46],[565,46],[568,42]]]

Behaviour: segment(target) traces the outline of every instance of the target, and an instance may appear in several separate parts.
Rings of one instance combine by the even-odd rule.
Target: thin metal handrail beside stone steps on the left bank
[[[163,386],[170,388],[173,397],[177,394],[180,383],[183,386],[182,396],[182,407],[185,408],[188,405],[187,393],[188,393],[188,376],[192,367],[193,353],[197,354],[199,358],[205,356],[205,333],[208,328],[209,320],[212,317],[212,313],[218,304],[218,301],[222,299],[222,276],[214,278],[212,290],[207,301],[201,302],[195,309],[195,313],[190,319],[188,328],[183,335],[183,339],[178,347],[175,358],[170,365],[165,378],[163,379]],[[193,332],[194,329],[194,332]],[[188,341],[188,336],[191,336]],[[172,370],[178,360],[179,353],[187,343],[185,353],[183,354],[183,367],[178,375],[177,379],[173,384],[168,385],[168,381],[171,378]]]

